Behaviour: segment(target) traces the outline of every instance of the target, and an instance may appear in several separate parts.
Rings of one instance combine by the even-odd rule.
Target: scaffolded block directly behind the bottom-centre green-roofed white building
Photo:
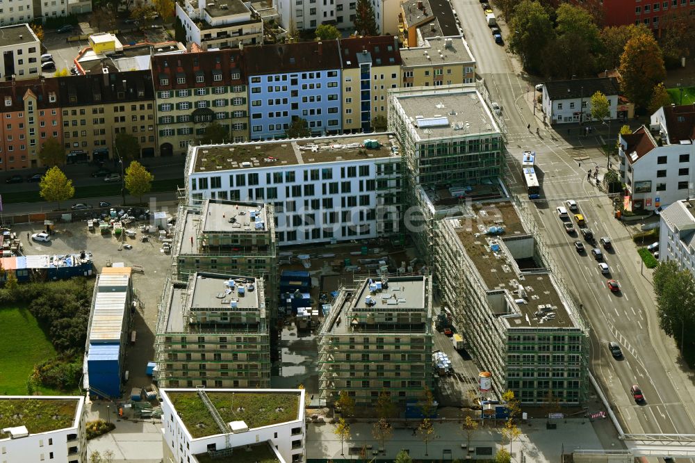
[[[160,387],[269,387],[263,279],[197,272],[166,282],[155,355]]]

